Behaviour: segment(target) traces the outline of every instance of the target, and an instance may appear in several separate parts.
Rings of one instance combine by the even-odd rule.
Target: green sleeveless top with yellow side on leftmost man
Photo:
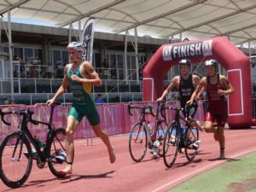
[[[83,78],[80,73],[80,67],[78,67],[75,71],[70,67],[67,72],[68,86],[71,92],[73,93],[73,102],[76,104],[85,104],[87,102],[91,102],[92,98],[90,97],[91,92],[91,84],[79,83],[73,81],[71,76],[76,74],[79,78]]]

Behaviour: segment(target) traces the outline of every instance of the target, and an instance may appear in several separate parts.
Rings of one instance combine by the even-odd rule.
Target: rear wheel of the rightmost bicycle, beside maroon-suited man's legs
[[[194,121],[194,120],[193,120]],[[197,147],[193,144],[199,140],[199,131],[196,127],[191,125],[196,125],[193,121],[189,124],[185,132],[184,144],[185,144],[185,154],[189,161],[195,159],[195,154],[197,154]]]

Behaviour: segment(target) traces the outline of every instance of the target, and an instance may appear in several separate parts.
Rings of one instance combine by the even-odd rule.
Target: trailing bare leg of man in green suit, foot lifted
[[[105,131],[102,131],[100,124],[92,126],[92,129],[96,133],[96,137],[100,137],[102,142],[107,146],[110,163],[113,163],[115,161],[115,154],[113,153],[108,134]]]

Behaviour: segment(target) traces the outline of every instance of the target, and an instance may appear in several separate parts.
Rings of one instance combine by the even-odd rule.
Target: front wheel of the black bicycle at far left
[[[0,147],[0,177],[10,188],[26,182],[32,170],[32,149],[25,136],[14,132],[3,139]]]

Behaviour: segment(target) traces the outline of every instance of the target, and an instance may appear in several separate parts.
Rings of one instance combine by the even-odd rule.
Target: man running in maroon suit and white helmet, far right
[[[234,88],[230,84],[229,80],[224,75],[219,75],[218,62],[215,60],[208,60],[205,62],[207,67],[207,76],[202,78],[193,95],[191,96],[188,105],[192,104],[195,97],[201,92],[201,90],[207,91],[208,96],[208,108],[205,115],[205,131],[213,132],[214,138],[219,143],[220,154],[219,159],[225,158],[225,137],[224,137],[224,125],[228,117],[227,103],[225,102],[225,96],[234,93]],[[212,126],[213,123],[217,125]]]

